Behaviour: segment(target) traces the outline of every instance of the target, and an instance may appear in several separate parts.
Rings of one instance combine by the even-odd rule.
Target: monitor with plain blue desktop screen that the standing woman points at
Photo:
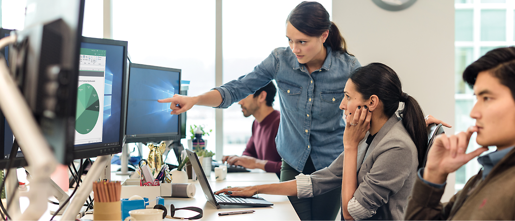
[[[158,103],[158,99],[179,94],[180,87],[180,69],[131,64],[127,100],[127,143],[181,139],[180,117],[170,115],[169,103]]]

